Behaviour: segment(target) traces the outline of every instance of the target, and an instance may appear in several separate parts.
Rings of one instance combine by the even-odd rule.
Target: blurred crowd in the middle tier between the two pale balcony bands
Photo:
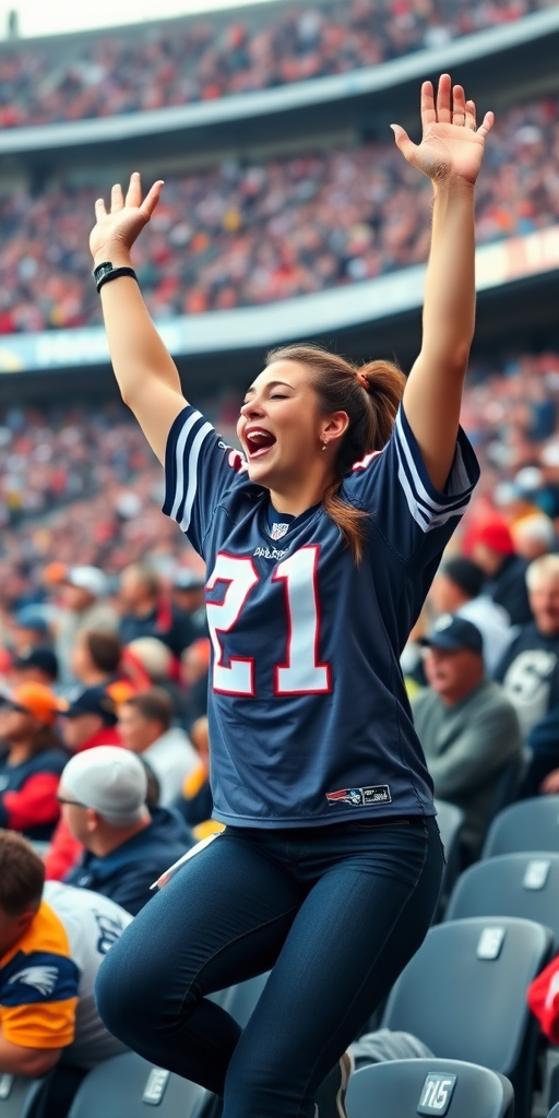
[[[477,190],[480,243],[559,220],[559,97],[504,113]],[[0,333],[101,321],[87,248],[100,188],[0,201]],[[421,263],[430,188],[391,140],[170,174],[134,259],[158,319],[231,309]]]

